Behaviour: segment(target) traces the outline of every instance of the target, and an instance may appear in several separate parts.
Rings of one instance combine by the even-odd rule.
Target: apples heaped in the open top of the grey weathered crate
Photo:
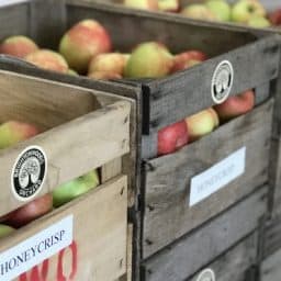
[[[113,52],[109,32],[94,20],[83,20],[67,31],[58,52],[40,49],[31,38],[18,35],[1,43],[0,54],[15,56],[47,70],[94,79],[159,78],[206,59],[205,54],[193,49],[172,55],[158,42],[142,43],[132,54]]]

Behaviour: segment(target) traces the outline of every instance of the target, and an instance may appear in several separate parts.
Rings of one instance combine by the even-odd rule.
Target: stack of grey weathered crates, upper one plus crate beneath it
[[[161,41],[175,53],[198,48],[212,57],[162,79],[104,83],[50,74],[8,58],[2,58],[0,67],[71,83],[74,88],[104,91],[112,87],[114,93],[136,101],[136,143],[132,149],[137,160],[131,166],[136,172],[130,181],[136,188],[133,198],[137,199],[130,205],[135,226],[135,280],[196,280],[212,272],[225,280],[231,272],[240,281],[251,272],[248,269],[258,259],[259,221],[268,207],[272,97],[277,93],[280,38],[259,40],[246,31],[218,24],[210,26],[82,0],[27,1],[2,8],[0,20],[5,22],[5,16],[16,21],[9,21],[8,27],[0,25],[1,38],[12,35],[12,31],[32,36],[42,46],[56,47],[66,29],[82,19],[95,19],[109,30],[115,48],[123,52],[139,42]],[[255,89],[255,110],[175,154],[157,157],[159,130],[215,104],[212,79],[225,61],[233,68],[229,95]],[[227,173],[237,159],[244,169],[226,184],[202,182],[206,190],[200,192],[192,183],[210,170]],[[224,265],[229,269],[222,270]]]

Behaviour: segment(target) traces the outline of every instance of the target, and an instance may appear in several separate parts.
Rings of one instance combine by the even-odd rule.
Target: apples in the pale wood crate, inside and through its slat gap
[[[5,149],[19,142],[31,138],[40,130],[30,123],[8,121],[0,125],[0,149]],[[27,204],[0,217],[0,238],[10,235],[34,220],[47,214],[54,207],[59,207],[99,184],[98,171],[93,170],[85,176],[57,187],[52,193],[40,196]],[[8,187],[7,187],[8,188]]]

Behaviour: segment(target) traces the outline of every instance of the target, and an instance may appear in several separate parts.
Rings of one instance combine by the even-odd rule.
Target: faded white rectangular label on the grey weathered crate
[[[189,205],[193,206],[245,172],[246,147],[191,179]]]

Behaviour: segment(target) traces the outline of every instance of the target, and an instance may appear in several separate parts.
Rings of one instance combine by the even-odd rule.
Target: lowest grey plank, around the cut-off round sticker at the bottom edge
[[[216,281],[248,281],[245,280],[246,272],[256,265],[257,256],[258,233],[255,233],[207,265],[206,268],[214,271]],[[187,281],[198,281],[199,274]]]

